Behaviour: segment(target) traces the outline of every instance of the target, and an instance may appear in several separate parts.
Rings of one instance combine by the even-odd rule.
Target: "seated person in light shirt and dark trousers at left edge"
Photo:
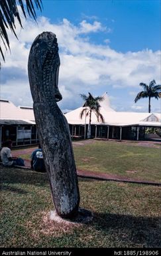
[[[1,161],[3,166],[12,167],[12,166],[25,166],[24,160],[22,158],[12,157],[11,148],[12,141],[7,140],[3,142],[3,148],[1,149]]]

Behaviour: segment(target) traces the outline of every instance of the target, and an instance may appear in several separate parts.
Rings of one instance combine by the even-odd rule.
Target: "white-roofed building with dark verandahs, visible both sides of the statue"
[[[145,140],[147,127],[161,129],[160,113],[117,112],[110,106],[107,93],[100,102],[100,112],[105,120],[98,122],[91,114],[91,137],[117,140]],[[80,118],[85,104],[65,114],[72,138],[85,138],[89,116]],[[157,137],[157,136],[156,136]],[[158,137],[159,139],[160,137]],[[10,139],[13,145],[36,144],[38,135],[31,107],[15,106],[9,100],[0,100],[0,146],[1,142]]]

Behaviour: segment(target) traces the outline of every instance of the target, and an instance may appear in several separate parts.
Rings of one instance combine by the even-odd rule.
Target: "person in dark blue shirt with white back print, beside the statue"
[[[40,144],[38,145],[38,149],[32,152],[30,158],[30,166],[33,170],[36,172],[46,172]]]

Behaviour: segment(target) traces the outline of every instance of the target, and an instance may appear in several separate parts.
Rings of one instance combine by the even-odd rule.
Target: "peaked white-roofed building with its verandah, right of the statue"
[[[116,112],[111,108],[107,93],[103,94],[104,100],[99,102],[100,113],[105,120],[104,123],[97,121],[94,113],[91,115],[91,136],[101,138],[117,138],[139,140],[145,138],[146,127],[161,128],[161,113],[142,112]],[[83,126],[89,123],[89,116],[80,118],[82,107],[65,114],[72,136],[83,136]],[[81,128],[79,128],[79,126]],[[72,128],[71,128],[72,127]],[[87,129],[86,129],[87,130]]]

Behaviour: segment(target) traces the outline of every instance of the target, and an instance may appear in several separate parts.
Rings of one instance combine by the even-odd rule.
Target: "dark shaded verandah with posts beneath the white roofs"
[[[72,140],[87,138],[87,124],[70,124]],[[111,140],[147,140],[146,129],[154,126],[112,126],[105,124],[91,124],[91,138]],[[161,127],[155,126],[160,129]],[[27,146],[38,144],[36,124],[0,124],[0,147],[5,140],[12,140],[13,146]],[[161,141],[161,137],[160,137]]]

